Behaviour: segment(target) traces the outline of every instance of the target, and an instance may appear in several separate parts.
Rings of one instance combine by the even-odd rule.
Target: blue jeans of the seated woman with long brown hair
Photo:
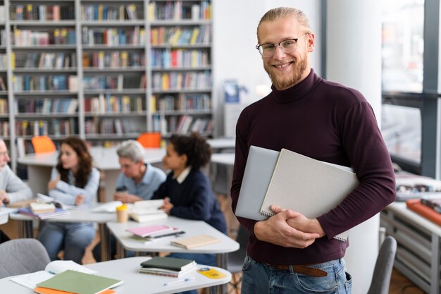
[[[81,264],[85,249],[95,237],[92,223],[46,222],[37,239],[46,248],[51,260],[58,259],[58,252],[64,250],[64,259]]]

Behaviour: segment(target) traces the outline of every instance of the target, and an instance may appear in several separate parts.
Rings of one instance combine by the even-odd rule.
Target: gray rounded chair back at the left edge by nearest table
[[[0,244],[0,278],[42,271],[51,260],[37,239],[13,239]]]

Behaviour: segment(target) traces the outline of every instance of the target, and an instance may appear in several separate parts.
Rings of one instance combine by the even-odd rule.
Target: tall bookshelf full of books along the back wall
[[[3,12],[2,12],[3,11]],[[211,1],[0,0],[0,136],[213,134]]]

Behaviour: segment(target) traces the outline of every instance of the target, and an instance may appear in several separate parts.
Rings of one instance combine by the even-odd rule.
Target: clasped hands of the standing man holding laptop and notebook
[[[280,209],[282,210],[282,209]],[[297,230],[287,223],[288,219],[301,216],[298,212],[282,210],[266,221],[258,221],[254,226],[256,238],[283,247],[306,248],[319,238],[318,233]]]

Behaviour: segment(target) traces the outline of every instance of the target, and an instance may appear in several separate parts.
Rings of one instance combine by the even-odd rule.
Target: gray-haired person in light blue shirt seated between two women
[[[149,200],[153,192],[166,180],[166,173],[144,163],[144,147],[136,140],[123,142],[116,153],[121,173],[116,180],[114,200],[123,203]]]

